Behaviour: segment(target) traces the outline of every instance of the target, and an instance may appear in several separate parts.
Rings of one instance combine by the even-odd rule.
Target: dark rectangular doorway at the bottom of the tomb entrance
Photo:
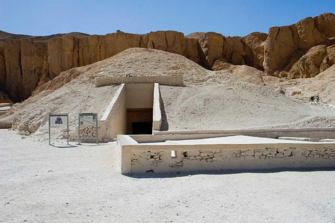
[[[152,134],[152,108],[127,109],[127,134]]]

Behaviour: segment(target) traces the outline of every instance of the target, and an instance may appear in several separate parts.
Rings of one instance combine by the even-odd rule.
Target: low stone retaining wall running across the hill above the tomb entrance
[[[95,78],[95,87],[118,85],[123,83],[125,84],[158,83],[170,86],[184,86],[183,75]]]

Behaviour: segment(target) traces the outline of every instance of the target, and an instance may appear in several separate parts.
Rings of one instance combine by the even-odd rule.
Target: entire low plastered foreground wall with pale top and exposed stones
[[[118,136],[122,174],[335,166],[335,143],[152,145],[126,137]]]

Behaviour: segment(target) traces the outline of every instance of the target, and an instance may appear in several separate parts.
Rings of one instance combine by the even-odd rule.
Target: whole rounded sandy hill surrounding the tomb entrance
[[[94,78],[134,72],[141,76],[184,75],[187,87],[160,86],[165,130],[295,127],[310,119],[320,120],[312,122],[313,127],[335,124],[334,107],[294,101],[227,70],[209,71],[179,54],[144,48],[129,48],[103,61],[64,71],[0,119],[12,121],[18,131],[46,137],[48,114],[70,113],[72,128],[78,112],[101,116],[118,88],[95,88]]]

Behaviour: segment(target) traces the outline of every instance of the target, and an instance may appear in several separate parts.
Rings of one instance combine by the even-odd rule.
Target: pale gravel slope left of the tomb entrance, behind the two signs
[[[19,106],[0,116],[2,120],[12,120],[13,128],[34,136],[48,135],[48,114],[69,113],[69,128],[78,125],[79,112],[105,112],[119,86],[95,88],[92,81],[72,80],[51,94],[43,93],[30,97]],[[61,127],[51,128],[55,137],[61,136]]]

